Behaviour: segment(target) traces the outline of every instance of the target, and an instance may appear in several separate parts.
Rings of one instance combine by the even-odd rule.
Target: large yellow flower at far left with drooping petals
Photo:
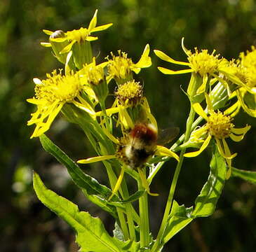
[[[27,102],[37,106],[36,112],[32,113],[32,118],[27,122],[27,125],[36,124],[32,137],[39,137],[46,132],[66,103],[74,104],[95,118],[94,109],[83,99],[82,93],[88,88],[81,83],[79,75],[64,76],[61,71],[57,73],[54,70],[51,74],[47,73],[46,77],[45,80],[34,78],[35,97],[27,99]]]

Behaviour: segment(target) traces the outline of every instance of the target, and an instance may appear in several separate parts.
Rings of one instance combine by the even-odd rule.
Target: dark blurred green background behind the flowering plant
[[[67,197],[81,210],[100,216],[112,232],[114,221],[83,198],[64,167],[40,146],[39,139],[29,139],[33,127],[26,122],[34,106],[25,99],[34,94],[32,78],[61,65],[50,50],[41,47],[47,36],[42,29],[64,31],[87,27],[99,9],[98,24],[113,22],[99,33],[93,43],[95,55],[102,59],[121,49],[133,62],[144,45],[159,49],[175,59],[186,60],[181,38],[187,48],[216,49],[228,59],[249,50],[256,43],[256,3],[253,0],[1,0],[0,1],[0,251],[77,251],[74,232],[36,198],[32,189],[32,169],[46,185]],[[151,53],[153,65],[142,70],[137,80],[144,89],[160,127],[176,125],[184,130],[189,103],[185,89],[189,76],[163,76],[156,66],[165,64]],[[114,87],[113,87],[114,88]],[[236,125],[252,125],[245,140],[231,146],[238,152],[234,166],[256,171],[255,118],[241,113]],[[58,146],[74,160],[94,155],[81,130],[60,117],[48,132]],[[81,140],[82,139],[82,140]],[[190,207],[208,177],[208,153],[185,162],[175,200]],[[150,198],[151,229],[159,228],[175,162],[168,162],[152,184],[151,191],[161,196]],[[101,183],[107,179],[100,165],[86,168]],[[170,178],[170,179],[168,179]],[[215,214],[200,218],[182,230],[163,251],[255,251],[256,186],[231,178],[227,181]]]

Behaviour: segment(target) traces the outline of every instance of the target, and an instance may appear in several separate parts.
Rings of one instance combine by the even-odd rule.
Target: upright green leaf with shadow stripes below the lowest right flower
[[[210,161],[210,175],[204,184],[200,195],[196,198],[196,206],[192,213],[195,217],[206,217],[213,214],[217,200],[222,193],[226,179],[227,165],[224,158],[220,155],[217,148]]]

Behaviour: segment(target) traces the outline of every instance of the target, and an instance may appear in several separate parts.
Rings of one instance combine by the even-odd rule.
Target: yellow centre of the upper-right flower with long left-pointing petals
[[[215,51],[212,54],[208,53],[208,50],[201,50],[198,52],[198,49],[195,48],[195,53],[188,57],[189,63],[191,64],[191,69],[195,73],[199,73],[202,77],[206,74],[212,74],[218,69],[218,65],[221,59],[218,59],[219,55],[214,55]]]

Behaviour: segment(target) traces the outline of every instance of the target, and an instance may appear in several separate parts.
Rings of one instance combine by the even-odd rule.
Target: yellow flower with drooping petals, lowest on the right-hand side
[[[215,112],[210,101],[210,97],[206,94],[206,102],[208,104],[208,115],[199,103],[193,104],[193,108],[199,116],[206,120],[206,124],[203,127],[196,129],[191,133],[189,141],[191,143],[203,143],[198,151],[184,154],[184,157],[192,158],[199,155],[210,143],[212,138],[215,139],[217,148],[223,158],[227,161],[229,171],[227,172],[227,179],[231,174],[231,159],[236,156],[236,153],[231,155],[229,146],[225,139],[230,137],[233,141],[241,141],[246,132],[250,130],[250,126],[246,125],[243,128],[234,128],[234,124],[231,123],[232,118],[227,113],[220,111]]]

